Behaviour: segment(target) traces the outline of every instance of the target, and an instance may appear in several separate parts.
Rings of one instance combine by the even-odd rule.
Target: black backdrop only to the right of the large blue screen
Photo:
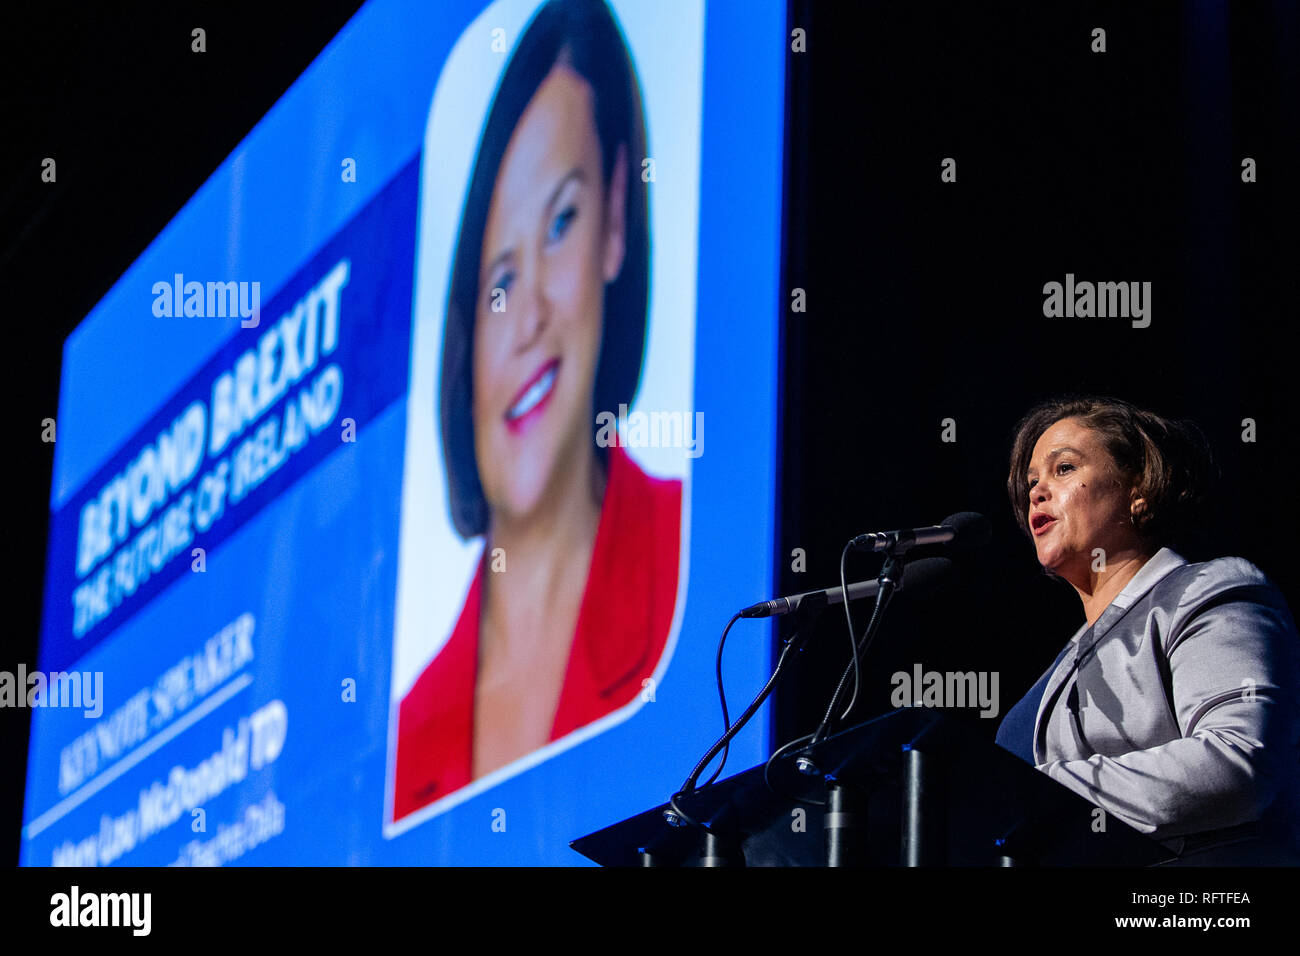
[[[1083,623],[1005,492],[1015,424],[1066,392],[1197,423],[1222,480],[1186,557],[1245,557],[1295,607],[1296,5],[793,10],[809,52],[790,57],[785,286],[807,312],[785,323],[780,591],[836,585],[857,533],[993,523],[956,585],[890,606],[857,713],[889,709],[890,675],[919,662],[997,671],[1005,714]],[[1043,285],[1067,272],[1150,281],[1150,326],[1045,319]],[[852,557],[849,580],[879,566]],[[781,741],[816,726],[848,658],[833,610],[779,698]],[[870,602],[855,611],[864,627]]]

